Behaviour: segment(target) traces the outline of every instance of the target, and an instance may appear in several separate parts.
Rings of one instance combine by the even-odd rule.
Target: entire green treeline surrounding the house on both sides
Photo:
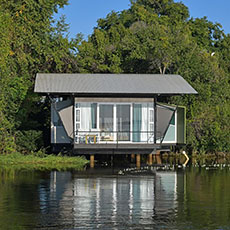
[[[190,18],[173,0],[136,0],[99,19],[94,32],[68,40],[67,0],[1,0],[0,152],[31,152],[48,140],[48,103],[33,94],[37,72],[180,74],[198,96],[185,105],[189,152],[230,150],[230,35],[207,18]],[[43,113],[43,114],[42,114]]]

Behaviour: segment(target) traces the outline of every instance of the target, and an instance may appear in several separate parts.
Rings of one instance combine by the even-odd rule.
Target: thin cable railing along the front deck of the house
[[[108,130],[80,131],[77,130],[74,136],[74,143],[75,144],[125,144],[125,143],[153,144],[154,131],[108,131]]]

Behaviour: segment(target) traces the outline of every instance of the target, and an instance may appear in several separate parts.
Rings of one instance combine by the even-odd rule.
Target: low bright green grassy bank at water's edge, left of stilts
[[[22,155],[14,153],[0,155],[0,167],[17,169],[38,169],[38,170],[80,170],[88,163],[84,157],[68,157],[44,155]]]

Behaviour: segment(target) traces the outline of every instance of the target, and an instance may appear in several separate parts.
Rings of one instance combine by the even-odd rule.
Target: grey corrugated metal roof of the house
[[[50,94],[197,94],[180,75],[161,74],[43,74],[35,92]]]

